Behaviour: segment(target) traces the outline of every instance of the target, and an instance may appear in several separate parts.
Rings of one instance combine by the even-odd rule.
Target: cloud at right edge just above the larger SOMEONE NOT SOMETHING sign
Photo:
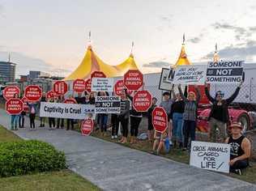
[[[229,45],[219,51],[220,59],[239,59],[252,62],[256,56],[256,40],[247,40],[242,46]],[[205,59],[211,59],[213,53],[208,53]]]

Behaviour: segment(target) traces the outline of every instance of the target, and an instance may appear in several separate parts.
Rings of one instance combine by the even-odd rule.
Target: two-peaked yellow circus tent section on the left
[[[122,62],[122,64],[117,66],[111,66],[101,61],[100,58],[97,57],[96,53],[94,53],[94,51],[92,50],[92,46],[89,45],[81,64],[64,80],[73,81],[75,79],[88,79],[91,77],[91,74],[94,71],[102,71],[106,74],[108,78],[112,78],[122,76],[126,73],[127,70],[130,69],[138,70],[132,54],[128,59],[126,59],[125,62]]]

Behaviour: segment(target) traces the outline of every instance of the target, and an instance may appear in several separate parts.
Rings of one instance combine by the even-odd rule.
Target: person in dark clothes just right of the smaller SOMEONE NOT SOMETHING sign
[[[122,139],[119,141],[121,143],[127,143],[128,136],[128,123],[130,116],[130,101],[127,100],[126,92],[122,91],[121,94],[121,112],[118,115],[118,121],[121,121],[122,125]]]

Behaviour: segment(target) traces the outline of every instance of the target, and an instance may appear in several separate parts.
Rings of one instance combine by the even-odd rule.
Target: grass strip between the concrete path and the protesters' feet
[[[75,129],[77,131],[79,131],[79,128],[77,127],[77,125],[76,125]],[[115,142],[117,144],[120,144],[119,142],[117,142],[117,139],[111,139],[110,132],[107,132],[107,134],[105,134],[105,136],[102,136],[102,134],[100,133],[100,130],[99,130],[97,132],[93,132],[92,136],[94,136],[96,138],[104,139],[109,142]],[[129,137],[128,137],[128,140],[129,140]],[[148,142],[148,141],[137,141],[136,143],[133,143],[133,144],[126,143],[126,144],[122,144],[122,145],[133,148],[133,149],[137,149],[139,151],[151,152],[153,143]],[[173,148],[173,149],[171,149],[169,154],[161,155],[161,156],[166,157],[168,159],[173,159],[173,160],[175,160],[177,162],[181,162],[181,163],[190,163],[189,153],[187,151],[181,151],[180,149]],[[251,167],[249,167],[245,171],[243,171],[241,176],[238,176],[236,174],[230,174],[228,176],[232,176],[234,178],[256,184],[256,163],[250,162],[250,165],[251,165]],[[227,175],[227,174],[224,174],[224,175]]]

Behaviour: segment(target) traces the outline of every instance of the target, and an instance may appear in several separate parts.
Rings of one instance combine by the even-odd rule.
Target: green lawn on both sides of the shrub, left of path
[[[23,141],[11,131],[0,125],[0,143]],[[1,191],[32,191],[32,190],[100,190],[96,185],[92,185],[88,180],[77,175],[70,170],[62,170],[59,172],[43,172],[25,176],[11,176],[0,178]]]

